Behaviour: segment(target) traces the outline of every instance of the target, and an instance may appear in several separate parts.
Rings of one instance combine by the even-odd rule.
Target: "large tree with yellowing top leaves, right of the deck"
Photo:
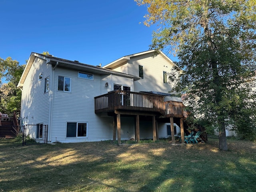
[[[144,24],[158,26],[151,48],[178,56],[175,90],[187,94],[202,122],[218,128],[219,148],[228,150],[225,128],[255,117],[246,109],[255,108],[256,0],[135,1],[148,7]]]

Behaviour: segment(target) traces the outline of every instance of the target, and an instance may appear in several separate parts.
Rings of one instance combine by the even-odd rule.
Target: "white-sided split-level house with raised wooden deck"
[[[99,67],[32,52],[18,84],[22,122],[37,125],[28,133],[40,140],[48,125],[48,142],[120,143],[167,138],[171,132],[174,138],[174,122],[184,135],[184,106],[169,94],[174,64],[164,53],[154,54],[132,54]]]

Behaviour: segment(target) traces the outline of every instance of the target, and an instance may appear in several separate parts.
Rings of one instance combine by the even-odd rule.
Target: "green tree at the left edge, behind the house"
[[[6,82],[0,82],[0,112],[12,114],[14,110],[20,110],[21,90],[17,88],[25,65],[20,65],[18,61],[11,57],[6,60],[0,58],[0,78],[5,78]]]

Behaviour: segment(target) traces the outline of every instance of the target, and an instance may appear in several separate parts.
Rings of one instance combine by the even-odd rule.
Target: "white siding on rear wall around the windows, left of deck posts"
[[[55,69],[54,89],[57,90],[58,76],[71,78],[72,91],[54,92],[52,108],[51,141],[85,142],[113,139],[113,117],[94,113],[94,97],[112,89],[113,82],[122,82],[132,86],[133,79],[121,76],[93,74],[94,79],[79,78],[77,71],[64,68]],[[106,88],[105,84],[109,86]],[[88,122],[87,136],[66,137],[66,122]]]

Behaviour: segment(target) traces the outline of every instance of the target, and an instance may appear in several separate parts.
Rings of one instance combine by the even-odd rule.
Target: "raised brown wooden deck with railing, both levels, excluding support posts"
[[[117,90],[94,98],[95,113],[115,112],[151,112],[158,118],[186,118],[188,112],[182,102],[166,101],[164,96]]]

